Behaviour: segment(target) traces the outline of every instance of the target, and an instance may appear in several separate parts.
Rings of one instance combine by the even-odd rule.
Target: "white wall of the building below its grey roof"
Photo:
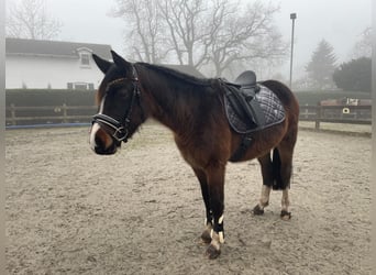
[[[103,74],[90,57],[89,66],[81,66],[77,58],[41,56],[5,57],[5,88],[66,89],[67,82],[92,82],[98,88]]]

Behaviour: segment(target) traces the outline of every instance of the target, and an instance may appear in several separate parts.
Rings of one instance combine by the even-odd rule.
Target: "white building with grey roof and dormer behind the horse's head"
[[[7,38],[5,88],[96,89],[103,78],[91,58],[110,45]]]

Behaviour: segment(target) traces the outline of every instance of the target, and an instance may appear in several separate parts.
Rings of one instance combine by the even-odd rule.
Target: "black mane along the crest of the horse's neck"
[[[172,69],[162,65],[154,65],[154,64],[148,64],[148,63],[136,63],[142,65],[143,67],[146,67],[148,69],[163,73],[164,75],[167,75],[169,77],[177,78],[181,81],[189,82],[192,85],[198,85],[198,86],[211,86],[212,79],[208,78],[198,78],[181,72],[178,72],[176,69]]]

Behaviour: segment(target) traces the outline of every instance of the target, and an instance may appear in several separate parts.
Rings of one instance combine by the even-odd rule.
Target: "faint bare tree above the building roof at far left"
[[[48,16],[44,0],[22,0],[9,6],[7,36],[32,40],[55,38],[62,29],[60,21]]]

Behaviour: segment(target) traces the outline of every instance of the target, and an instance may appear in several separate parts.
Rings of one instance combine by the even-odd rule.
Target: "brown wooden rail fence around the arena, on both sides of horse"
[[[90,123],[96,106],[7,107],[5,123],[12,125]],[[300,120],[321,122],[372,124],[371,106],[300,106]]]

